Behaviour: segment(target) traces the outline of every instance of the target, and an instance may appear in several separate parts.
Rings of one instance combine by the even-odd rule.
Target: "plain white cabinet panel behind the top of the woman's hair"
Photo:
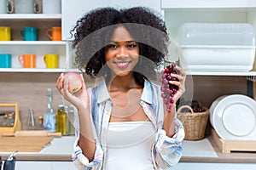
[[[148,1],[148,0],[73,0],[62,1],[62,39],[72,39],[70,31],[75,26],[76,21],[79,20],[86,12],[93,8],[99,7],[114,7],[114,8],[130,8],[135,6],[146,6],[154,8],[160,13],[160,0]]]

